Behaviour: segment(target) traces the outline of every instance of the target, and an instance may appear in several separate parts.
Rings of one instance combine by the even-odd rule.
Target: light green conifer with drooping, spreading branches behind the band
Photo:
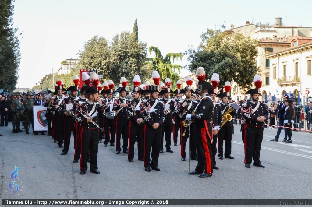
[[[175,70],[178,70],[180,73],[183,67],[181,65],[172,64],[171,59],[173,63],[174,60],[180,59],[181,61],[183,58],[182,53],[168,53],[165,57],[163,57],[158,47],[150,46],[149,54],[151,55],[152,52],[155,53],[155,57],[148,58],[147,61],[150,62],[154,69],[158,71],[160,79],[164,81],[166,78],[170,78],[172,83],[177,82],[179,80],[179,76]]]

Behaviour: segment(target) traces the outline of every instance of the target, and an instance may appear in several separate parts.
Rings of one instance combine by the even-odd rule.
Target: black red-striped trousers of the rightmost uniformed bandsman
[[[260,150],[263,139],[263,127],[253,127],[244,123],[241,133],[244,149],[245,149],[245,164],[251,164],[252,158],[254,165],[261,164]]]

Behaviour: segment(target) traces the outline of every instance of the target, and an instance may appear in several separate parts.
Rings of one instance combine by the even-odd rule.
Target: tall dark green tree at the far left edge
[[[21,59],[18,28],[12,24],[13,8],[12,0],[0,1],[0,89],[7,91],[15,89]]]

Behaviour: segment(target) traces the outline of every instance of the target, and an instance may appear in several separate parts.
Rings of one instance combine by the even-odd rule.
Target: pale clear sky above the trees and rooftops
[[[121,31],[132,31],[138,20],[139,39],[163,55],[197,48],[202,32],[250,23],[275,22],[312,27],[312,1],[233,0],[15,0],[14,26],[22,32],[17,87],[32,88],[61,62],[78,58],[93,36],[111,41]],[[287,16],[287,18],[286,18]],[[268,34],[269,37],[270,34]],[[182,62],[187,64],[187,57]],[[187,71],[182,72],[186,76]]]

